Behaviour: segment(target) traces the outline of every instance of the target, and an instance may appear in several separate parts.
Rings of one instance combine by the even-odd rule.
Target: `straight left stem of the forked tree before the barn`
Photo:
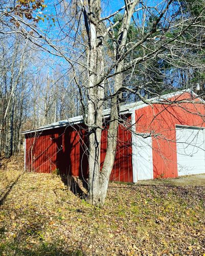
[[[101,15],[100,0],[89,2],[89,85],[87,125],[89,132],[89,183],[88,200],[93,205],[102,205],[102,191],[100,189],[100,148],[102,134],[102,99],[104,96],[104,82],[96,84],[104,72],[102,27],[99,22]]]

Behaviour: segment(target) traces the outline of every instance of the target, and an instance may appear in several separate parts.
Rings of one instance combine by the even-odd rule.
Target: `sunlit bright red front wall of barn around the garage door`
[[[177,98],[190,98],[186,93]],[[172,98],[173,100],[173,98]],[[175,100],[175,99],[174,99]],[[204,127],[204,105],[181,103],[155,104],[136,110],[136,132],[152,133],[152,156],[154,178],[177,177],[175,125]],[[202,116],[200,116],[202,115]]]

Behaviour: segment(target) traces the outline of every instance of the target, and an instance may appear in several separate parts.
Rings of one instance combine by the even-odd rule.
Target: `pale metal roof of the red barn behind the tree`
[[[147,104],[156,104],[159,101],[164,101],[164,100],[167,100],[167,99],[172,98],[174,96],[178,96],[178,95],[183,94],[183,93],[191,93],[192,95],[198,96],[191,89],[186,89],[186,90],[177,91],[177,92],[174,92],[174,93],[168,93],[168,94],[162,95],[160,97],[154,97],[154,98],[147,99],[146,102],[148,102],[148,103],[145,103],[144,101],[141,100],[141,101],[121,105],[120,106],[120,113],[131,113],[132,111],[134,111],[136,109],[144,108],[145,106],[147,106]],[[103,111],[103,116],[104,117],[109,116],[109,113],[110,113],[110,109],[106,109],[106,110]],[[22,132],[22,134],[40,132],[40,131],[44,131],[44,130],[55,129],[55,128],[58,128],[58,127],[69,126],[69,125],[82,123],[82,122],[83,122],[83,116],[76,116],[76,117],[61,120],[61,121],[58,121],[58,122],[50,123],[50,124],[47,124],[47,125],[44,125],[44,126],[40,126],[35,130],[24,131],[24,132]]]

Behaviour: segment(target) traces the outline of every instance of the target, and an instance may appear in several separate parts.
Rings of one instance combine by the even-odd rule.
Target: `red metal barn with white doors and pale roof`
[[[171,104],[170,104],[171,102]],[[191,90],[121,106],[110,180],[137,182],[205,173],[204,102]],[[105,118],[109,111],[104,111]],[[128,129],[131,126],[131,129]],[[25,131],[25,169],[87,178],[88,136],[82,117]],[[107,128],[102,132],[101,164]]]

